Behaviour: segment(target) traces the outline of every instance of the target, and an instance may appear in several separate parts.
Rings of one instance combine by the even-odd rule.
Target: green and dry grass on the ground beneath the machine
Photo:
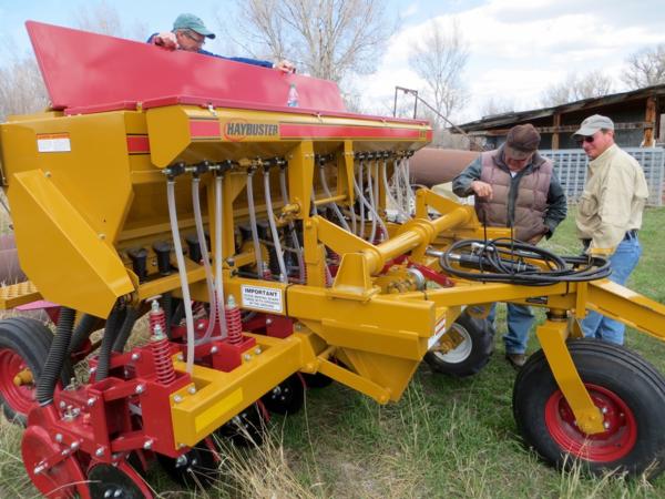
[[[665,303],[663,226],[665,208],[645,213],[644,255],[630,287]],[[549,245],[561,254],[580,252],[572,217]],[[500,318],[498,332],[503,328]],[[665,344],[630,330],[627,345],[665,373]],[[532,339],[530,352],[535,349]],[[497,352],[479,375],[453,379],[422,365],[399,404],[379,406],[336,384],[309,390],[305,410],[274,417],[260,449],[231,451],[219,482],[197,497],[665,497],[665,476],[653,482],[589,478],[539,461],[516,434],[514,376],[499,334]],[[0,439],[0,497],[34,497],[17,457],[20,430],[3,424]],[[157,470],[149,478],[161,497],[192,497]]]

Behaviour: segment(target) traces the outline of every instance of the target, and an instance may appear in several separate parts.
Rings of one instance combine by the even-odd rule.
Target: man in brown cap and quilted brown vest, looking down
[[[475,213],[492,227],[513,227],[518,240],[538,243],[551,237],[565,218],[566,198],[552,161],[538,153],[540,134],[532,124],[510,129],[505,144],[483,152],[452,181],[461,197],[475,196]],[[495,306],[489,319],[494,322]],[[524,365],[531,308],[508,304],[505,358],[515,368]]]

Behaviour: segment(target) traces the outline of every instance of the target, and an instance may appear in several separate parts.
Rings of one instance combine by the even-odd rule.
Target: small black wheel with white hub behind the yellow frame
[[[464,337],[463,343],[446,354],[428,352],[424,361],[437,373],[459,378],[479,373],[494,352],[494,328],[489,320],[471,317],[467,312],[451,327]]]

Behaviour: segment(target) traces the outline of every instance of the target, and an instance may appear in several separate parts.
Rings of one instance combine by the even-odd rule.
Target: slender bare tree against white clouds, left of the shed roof
[[[457,21],[448,26],[438,20],[432,21],[419,41],[411,47],[410,65],[426,82],[424,99],[429,98],[437,112],[446,118],[468,101],[461,82],[461,73],[468,59],[468,45]],[[432,124],[436,129],[441,126],[441,122],[434,115]]]

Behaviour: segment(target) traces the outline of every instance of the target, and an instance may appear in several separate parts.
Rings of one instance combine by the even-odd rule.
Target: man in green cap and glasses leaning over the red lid
[[[175,19],[172,31],[154,33],[147,39],[147,42],[168,50],[186,50],[187,52],[197,52],[229,61],[244,62],[246,64],[260,65],[264,68],[275,68],[285,73],[293,73],[296,70],[294,64],[286,60],[273,64],[270,61],[262,61],[259,59],[225,58],[208,52],[207,50],[203,50],[206,38],[213,40],[215,33],[205,27],[201,18],[191,13],[182,13]]]

